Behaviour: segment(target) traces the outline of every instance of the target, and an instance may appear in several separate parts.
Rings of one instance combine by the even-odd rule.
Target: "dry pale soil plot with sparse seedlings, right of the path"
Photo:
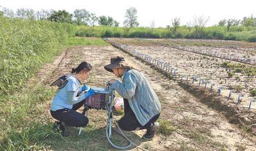
[[[150,41],[153,40],[138,41],[134,39],[111,38],[111,41],[125,44],[127,45],[127,48],[131,50],[136,50],[142,54],[150,55],[150,57],[152,57],[153,59],[158,59],[159,61],[163,62],[169,62],[172,68],[178,69],[180,75],[186,76],[189,74],[190,78],[195,75],[198,77],[198,80],[199,78],[203,78],[207,82],[214,83],[215,89],[218,89],[218,87],[223,87],[223,96],[228,96],[230,90],[234,90],[235,92],[232,94],[232,100],[230,101],[231,103],[237,103],[237,97],[239,96],[239,94],[244,94],[241,106],[243,106],[244,108],[248,108],[248,103],[253,99],[253,97],[250,96],[250,89],[256,87],[256,78],[253,76],[248,77],[245,73],[234,73],[234,76],[229,78],[227,73],[228,71],[230,71],[230,69],[222,68],[220,66],[220,64],[223,64],[223,62],[228,61],[226,59],[209,57],[207,55],[201,55],[193,52],[178,50],[172,47],[166,47],[163,45],[163,43],[150,43]],[[191,40],[164,41],[169,41],[170,43],[172,41],[175,41],[175,44],[173,45],[179,45],[179,47],[188,47],[182,46],[183,43],[184,45],[189,45],[189,42],[191,42]],[[194,44],[195,41],[207,43],[207,40],[194,40]],[[209,43],[208,45],[218,45],[216,47],[204,47],[203,49],[207,51],[217,51],[220,53],[228,52],[228,54],[231,54],[230,52],[237,55],[246,54],[250,55],[250,57],[253,58],[256,57],[256,51],[250,50],[252,48],[256,48],[254,43],[248,46],[244,45],[244,42],[240,41],[226,41],[225,43],[223,41],[219,41],[219,43],[217,43],[217,41],[213,40],[210,44]],[[232,46],[232,48],[229,48],[228,45]],[[193,49],[194,47],[195,46],[189,46],[188,48]],[[230,62],[232,62],[233,64],[237,63],[234,61]],[[246,66],[250,65],[246,64]],[[195,83],[198,84],[198,82]],[[204,84],[202,84],[201,86],[204,87]],[[253,109],[255,110],[256,107],[254,107]]]

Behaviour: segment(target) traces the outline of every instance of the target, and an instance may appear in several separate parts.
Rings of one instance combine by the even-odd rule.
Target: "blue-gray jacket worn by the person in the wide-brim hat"
[[[161,104],[145,76],[135,69],[127,69],[122,83],[117,80],[113,89],[128,99],[129,105],[141,126],[161,112]]]

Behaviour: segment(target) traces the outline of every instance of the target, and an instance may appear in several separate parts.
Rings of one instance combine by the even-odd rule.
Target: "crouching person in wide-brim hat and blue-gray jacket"
[[[125,131],[147,129],[143,135],[146,140],[152,140],[159,123],[156,120],[160,116],[161,104],[145,76],[138,70],[132,69],[124,57],[113,57],[111,63],[104,68],[122,78],[110,80],[113,89],[124,97],[124,116],[118,120],[118,126]]]

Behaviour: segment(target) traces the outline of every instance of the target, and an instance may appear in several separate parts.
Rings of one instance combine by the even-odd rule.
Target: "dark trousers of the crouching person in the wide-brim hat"
[[[139,129],[148,129],[156,120],[159,118],[160,113],[154,116],[145,126],[141,126],[141,124],[136,119],[135,114],[133,113],[128,100],[124,99],[124,117],[118,120],[118,126],[122,128],[124,131],[134,131]]]

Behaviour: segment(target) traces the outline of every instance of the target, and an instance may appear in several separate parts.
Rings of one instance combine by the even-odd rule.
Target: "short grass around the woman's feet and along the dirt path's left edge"
[[[86,43],[88,40],[88,43]],[[107,45],[105,41],[95,38],[68,38],[65,47],[75,45]],[[70,43],[73,41],[73,43]],[[63,47],[60,47],[60,49]],[[61,50],[58,50],[61,51]],[[58,54],[54,54],[58,55]],[[53,61],[51,57],[49,61]],[[44,62],[45,64],[45,62]],[[37,71],[40,70],[39,66]],[[33,73],[31,73],[31,76]],[[50,76],[50,75],[45,75]],[[35,79],[36,77],[33,77]],[[62,138],[52,131],[52,117],[49,115],[49,101],[54,97],[56,89],[38,82],[24,80],[22,90],[1,97],[0,101],[0,150],[81,150],[84,145],[88,150],[108,150],[109,145],[104,136],[104,126],[99,121],[90,121],[90,126],[77,136],[78,129],[71,129],[73,136]],[[99,119],[99,117],[95,118]],[[93,139],[92,139],[93,138]],[[97,140],[96,138],[99,138]],[[113,141],[119,143],[119,136]],[[101,143],[104,140],[104,143]],[[77,143],[79,142],[79,143]],[[123,142],[120,142],[123,143]]]

